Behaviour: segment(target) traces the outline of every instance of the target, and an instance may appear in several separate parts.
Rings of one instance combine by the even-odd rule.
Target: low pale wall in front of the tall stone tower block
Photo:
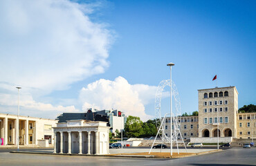
[[[217,137],[191,137],[190,143],[217,143]],[[219,137],[220,143],[228,143],[232,142],[232,137]]]

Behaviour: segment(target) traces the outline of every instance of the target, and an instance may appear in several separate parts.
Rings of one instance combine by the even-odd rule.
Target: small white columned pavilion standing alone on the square
[[[109,154],[107,122],[67,120],[54,127],[54,153]]]

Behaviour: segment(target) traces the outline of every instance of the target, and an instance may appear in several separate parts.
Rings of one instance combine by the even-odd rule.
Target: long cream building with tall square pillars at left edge
[[[0,138],[3,145],[17,145],[19,128],[19,145],[51,147],[54,145],[53,127],[57,120],[34,118],[30,116],[0,113]],[[19,127],[18,127],[19,124]]]

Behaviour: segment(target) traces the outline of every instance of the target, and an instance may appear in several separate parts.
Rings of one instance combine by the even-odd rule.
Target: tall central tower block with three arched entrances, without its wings
[[[198,90],[199,137],[237,138],[238,92],[235,86]]]

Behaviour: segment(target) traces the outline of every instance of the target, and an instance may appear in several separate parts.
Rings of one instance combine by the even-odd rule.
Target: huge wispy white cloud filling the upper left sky
[[[21,109],[30,110],[30,116],[77,111],[39,98],[109,66],[111,33],[89,17],[97,5],[67,0],[0,2],[0,112],[17,110],[17,85],[22,86]]]

